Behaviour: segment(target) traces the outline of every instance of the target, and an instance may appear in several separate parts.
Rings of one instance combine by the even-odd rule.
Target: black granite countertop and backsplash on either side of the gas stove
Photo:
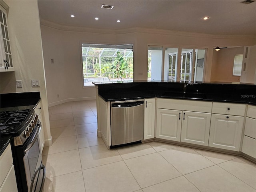
[[[0,111],[33,110],[39,101],[40,92],[0,94]],[[0,151],[2,154],[12,141],[12,136],[0,136],[0,140]]]

